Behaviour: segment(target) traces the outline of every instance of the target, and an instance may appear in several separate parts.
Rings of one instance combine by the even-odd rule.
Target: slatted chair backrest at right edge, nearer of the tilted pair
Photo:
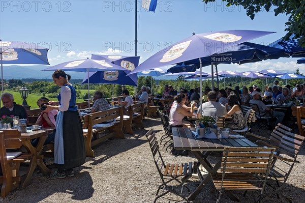
[[[280,154],[286,154],[296,160],[304,140],[305,137],[302,135],[287,132],[282,137],[278,151]]]

